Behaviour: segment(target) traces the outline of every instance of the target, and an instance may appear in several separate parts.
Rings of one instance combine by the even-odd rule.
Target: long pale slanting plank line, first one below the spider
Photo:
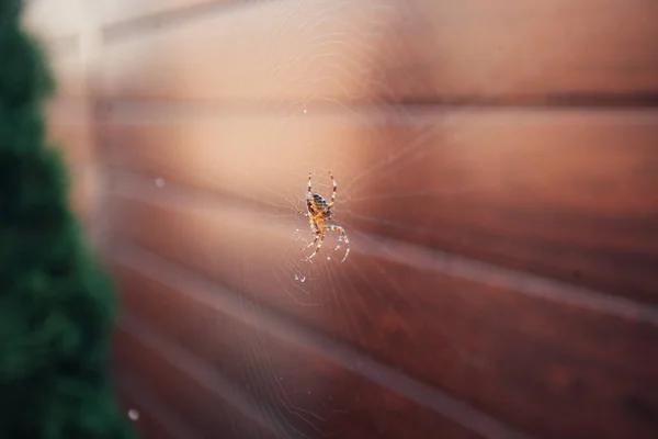
[[[530,438],[463,401],[455,399],[304,325],[284,318],[247,297],[238,296],[208,279],[141,249],[135,244],[117,241],[112,255],[114,260],[181,291],[191,300],[248,325],[263,328],[286,342],[321,356],[484,437]],[[250,306],[245,306],[246,301],[250,302]],[[198,367],[190,364],[190,369],[198,369]]]

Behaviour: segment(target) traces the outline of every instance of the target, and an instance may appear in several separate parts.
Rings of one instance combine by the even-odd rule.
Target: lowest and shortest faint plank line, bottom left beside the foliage
[[[200,437],[192,432],[192,430],[184,425],[172,410],[158,401],[158,398],[141,384],[143,380],[123,371],[120,371],[115,375],[120,391],[126,394],[136,404],[140,405],[144,410],[172,437],[180,439],[196,439]]]

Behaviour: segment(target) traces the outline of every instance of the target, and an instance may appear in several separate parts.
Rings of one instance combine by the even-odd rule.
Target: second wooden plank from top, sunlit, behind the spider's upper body
[[[112,166],[303,211],[308,171],[338,224],[658,303],[658,113],[112,110]],[[307,221],[296,215],[302,229]]]

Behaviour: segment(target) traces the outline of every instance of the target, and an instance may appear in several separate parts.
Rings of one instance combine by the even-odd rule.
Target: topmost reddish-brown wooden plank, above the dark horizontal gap
[[[220,3],[106,29],[102,94],[296,102],[300,112],[658,90],[655,1]]]

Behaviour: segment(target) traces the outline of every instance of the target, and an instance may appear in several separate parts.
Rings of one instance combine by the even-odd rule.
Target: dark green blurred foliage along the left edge
[[[110,373],[115,296],[46,144],[43,50],[0,0],[0,438],[133,438]]]

